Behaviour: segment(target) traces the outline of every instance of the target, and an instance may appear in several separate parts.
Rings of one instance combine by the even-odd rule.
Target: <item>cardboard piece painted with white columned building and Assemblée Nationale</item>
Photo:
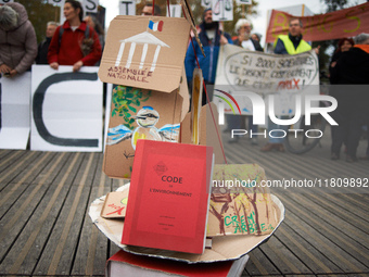
[[[116,16],[109,27],[99,77],[171,92],[180,83],[189,34],[184,18]]]

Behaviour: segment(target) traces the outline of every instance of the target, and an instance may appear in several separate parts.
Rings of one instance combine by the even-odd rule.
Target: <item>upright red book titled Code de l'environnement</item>
[[[213,148],[139,140],[122,243],[204,251]]]

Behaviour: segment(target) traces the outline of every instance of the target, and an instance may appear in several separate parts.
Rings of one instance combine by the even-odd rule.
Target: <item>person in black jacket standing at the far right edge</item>
[[[360,34],[354,40],[355,46],[343,52],[331,70],[331,84],[338,85],[331,89],[331,96],[338,100],[332,117],[339,124],[331,154],[339,159],[342,143],[346,141],[348,163],[357,161],[361,127],[369,118],[369,34]]]

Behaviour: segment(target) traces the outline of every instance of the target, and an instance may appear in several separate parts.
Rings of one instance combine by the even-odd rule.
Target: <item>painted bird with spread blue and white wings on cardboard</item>
[[[138,124],[138,127],[133,131],[124,124],[109,128],[106,143],[112,146],[126,139],[131,139],[132,148],[136,150],[138,139],[178,141],[179,124],[166,124],[157,129],[155,124],[158,122],[160,115],[152,106],[142,106],[133,118]]]

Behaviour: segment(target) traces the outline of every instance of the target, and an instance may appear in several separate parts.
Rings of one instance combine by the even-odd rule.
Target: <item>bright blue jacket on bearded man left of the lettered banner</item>
[[[199,38],[200,38],[201,43],[203,45],[206,56],[202,54],[200,50],[200,46],[195,39],[193,39],[193,46],[196,51],[198,60],[200,63],[200,68],[203,71],[203,77],[205,81],[214,84],[215,74],[216,74],[217,64],[218,64],[218,55],[219,55],[219,47],[220,47],[219,40],[220,40],[221,32],[217,28],[215,39],[212,41],[206,36],[204,24],[201,24],[200,28],[201,28],[201,33],[199,34]],[[227,33],[224,33],[222,35],[228,39],[228,42],[232,45],[231,37]],[[187,80],[191,83],[193,70],[198,67],[196,59],[195,59],[191,42],[189,45],[189,48],[187,49],[184,67],[186,67]]]

